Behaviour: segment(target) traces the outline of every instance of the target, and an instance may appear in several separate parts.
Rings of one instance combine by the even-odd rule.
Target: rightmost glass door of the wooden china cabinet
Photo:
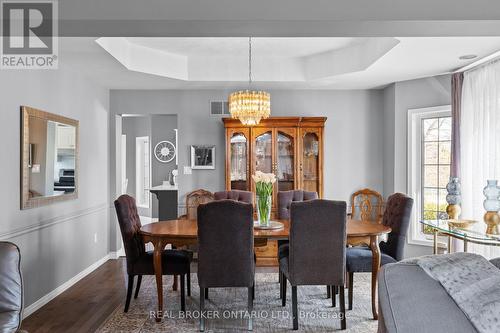
[[[320,141],[319,133],[302,130],[302,163],[300,166],[301,183],[304,191],[320,193]]]

